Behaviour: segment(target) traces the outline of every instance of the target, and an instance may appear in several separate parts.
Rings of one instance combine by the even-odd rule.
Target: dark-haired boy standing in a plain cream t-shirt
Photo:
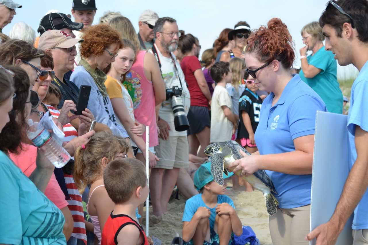
[[[229,62],[220,61],[210,68],[211,77],[216,82],[211,104],[210,142],[224,142],[231,139],[238,127],[238,120],[233,113],[233,103],[226,84],[231,82],[233,74]]]

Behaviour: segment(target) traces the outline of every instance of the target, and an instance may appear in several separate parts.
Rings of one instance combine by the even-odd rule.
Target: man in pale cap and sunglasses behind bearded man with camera
[[[159,19],[159,15],[152,10],[145,10],[139,15],[138,25],[138,39],[141,43],[141,48],[143,50],[151,49],[155,34],[153,33],[153,28],[155,27],[156,21]]]

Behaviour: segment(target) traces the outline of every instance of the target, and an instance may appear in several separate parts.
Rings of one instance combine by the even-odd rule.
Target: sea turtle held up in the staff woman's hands
[[[223,173],[227,175],[229,170],[231,171],[234,169],[229,168],[229,164],[243,157],[240,155],[240,150],[251,155],[235,141],[213,143],[206,147],[204,152],[207,156],[212,156],[211,173],[217,184],[223,186]],[[234,172],[236,175],[240,175],[240,173],[241,170]],[[279,206],[279,202],[271,193],[272,191],[277,194],[275,187],[265,170],[260,169],[248,177],[242,176],[241,178],[251,184],[255,189],[263,192],[266,200],[267,212],[270,216],[274,215],[277,211],[277,206]]]

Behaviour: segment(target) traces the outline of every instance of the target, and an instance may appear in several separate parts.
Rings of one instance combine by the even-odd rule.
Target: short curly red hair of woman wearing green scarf
[[[84,42],[81,43],[80,52],[82,58],[88,58],[92,54],[100,56],[107,46],[116,43],[117,50],[123,48],[120,34],[109,25],[92,25],[86,29],[82,36]]]

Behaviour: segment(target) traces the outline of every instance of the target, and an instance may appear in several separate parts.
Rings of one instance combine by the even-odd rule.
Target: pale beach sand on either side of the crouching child
[[[237,214],[243,225],[252,227],[261,245],[272,245],[268,227],[269,214],[266,211],[262,192],[257,190],[253,192],[231,190],[229,196],[234,201]],[[149,235],[159,238],[163,245],[170,245],[177,233],[181,236],[183,228],[181,219],[186,199],[181,195],[179,195],[179,198],[180,200],[174,198],[170,200],[169,213],[161,217],[153,216],[152,206],[150,206]],[[145,226],[145,217],[142,224]]]

